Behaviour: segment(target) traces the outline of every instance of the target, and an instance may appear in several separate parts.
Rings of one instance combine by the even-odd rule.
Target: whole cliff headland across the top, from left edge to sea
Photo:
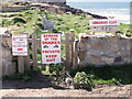
[[[40,7],[42,10],[55,13],[66,13],[70,12],[73,14],[88,14],[95,19],[107,19],[107,16],[101,16],[97,14],[92,14],[89,12],[85,12],[81,9],[72,8],[66,4],[66,0],[31,0],[32,2],[14,2],[15,6],[2,6],[2,12],[4,11],[21,11],[28,10],[31,7]],[[54,2],[53,2],[54,1]],[[35,2],[35,3],[34,3]]]

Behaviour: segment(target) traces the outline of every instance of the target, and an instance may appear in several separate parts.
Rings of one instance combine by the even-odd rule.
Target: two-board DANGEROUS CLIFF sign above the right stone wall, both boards
[[[117,32],[120,22],[118,20],[90,20],[92,32]]]

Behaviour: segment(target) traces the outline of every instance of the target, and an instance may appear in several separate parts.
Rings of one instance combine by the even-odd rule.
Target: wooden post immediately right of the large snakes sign
[[[69,63],[69,33],[66,33],[66,69],[69,68],[70,63]]]

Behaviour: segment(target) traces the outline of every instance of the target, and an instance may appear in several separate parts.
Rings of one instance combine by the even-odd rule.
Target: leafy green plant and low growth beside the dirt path
[[[95,75],[86,74],[85,72],[77,72],[74,77],[75,87],[91,88],[96,85],[118,85],[119,81],[114,78],[103,80],[97,78]]]

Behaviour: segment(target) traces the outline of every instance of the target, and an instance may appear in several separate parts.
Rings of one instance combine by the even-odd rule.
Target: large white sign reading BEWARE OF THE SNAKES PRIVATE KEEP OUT
[[[42,64],[62,63],[61,34],[41,34]]]

